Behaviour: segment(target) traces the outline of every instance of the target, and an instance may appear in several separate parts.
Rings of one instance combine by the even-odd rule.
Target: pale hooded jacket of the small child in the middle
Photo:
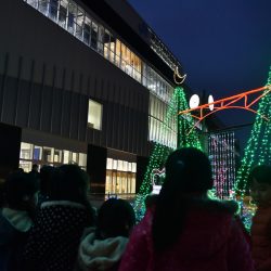
[[[127,237],[116,236],[99,240],[94,228],[87,234],[79,246],[78,270],[115,271],[128,243]]]

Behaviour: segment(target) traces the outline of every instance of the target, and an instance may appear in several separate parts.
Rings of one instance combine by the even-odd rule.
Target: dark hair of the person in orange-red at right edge
[[[253,168],[248,175],[248,185],[250,186],[254,179],[258,183],[267,183],[271,185],[271,166],[260,165]]]

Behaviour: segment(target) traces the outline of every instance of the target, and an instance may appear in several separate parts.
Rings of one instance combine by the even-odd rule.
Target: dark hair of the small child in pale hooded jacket
[[[132,206],[125,199],[109,198],[98,211],[96,236],[99,238],[128,237],[134,223],[136,215]]]

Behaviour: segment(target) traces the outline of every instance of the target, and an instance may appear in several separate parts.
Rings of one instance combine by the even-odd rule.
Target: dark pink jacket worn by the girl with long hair
[[[232,210],[218,202],[203,201],[193,206],[175,244],[162,253],[153,247],[152,220],[151,210],[133,230],[120,271],[254,270],[243,229]]]

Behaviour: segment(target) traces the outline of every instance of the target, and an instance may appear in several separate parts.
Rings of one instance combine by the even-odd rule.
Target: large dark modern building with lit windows
[[[150,142],[176,146],[160,127],[179,61],[126,1],[0,7],[1,177],[76,163],[92,192],[136,193]]]

